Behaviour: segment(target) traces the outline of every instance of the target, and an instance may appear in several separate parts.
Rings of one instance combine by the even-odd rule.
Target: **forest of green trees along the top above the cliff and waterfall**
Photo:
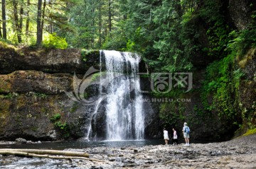
[[[16,45],[139,52],[151,69],[191,70],[198,57],[207,65],[255,46],[255,22],[238,30],[228,8],[220,0],[1,0],[0,37]],[[255,20],[255,3],[249,11]]]

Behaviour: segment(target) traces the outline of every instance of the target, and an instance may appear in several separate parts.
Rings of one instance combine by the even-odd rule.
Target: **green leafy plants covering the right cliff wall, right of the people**
[[[202,100],[206,110],[218,112],[221,118],[230,120],[233,124],[239,124],[240,118],[237,115],[239,106],[233,97],[239,87],[236,83],[239,83],[243,72],[241,69],[232,71],[234,59],[235,56],[230,54],[207,67]],[[209,97],[213,98],[213,103],[208,103]]]

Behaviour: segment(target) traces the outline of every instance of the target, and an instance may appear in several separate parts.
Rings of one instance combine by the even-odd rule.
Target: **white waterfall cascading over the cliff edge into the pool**
[[[100,51],[100,65],[105,65],[105,76],[100,76],[100,81],[109,82],[107,88],[100,89],[106,99],[107,140],[144,139],[144,112],[137,76],[139,59],[130,52]]]

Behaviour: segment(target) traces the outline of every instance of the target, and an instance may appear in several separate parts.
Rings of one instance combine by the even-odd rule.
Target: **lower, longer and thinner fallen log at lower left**
[[[1,150],[1,149],[0,149]],[[53,159],[82,159],[87,161],[97,161],[103,163],[109,163],[108,161],[101,161],[96,158],[86,158],[80,156],[50,156],[48,154],[35,154],[35,153],[26,153],[22,151],[0,151],[2,155],[14,155],[14,156],[27,156],[27,157],[36,157],[36,158],[53,158]]]

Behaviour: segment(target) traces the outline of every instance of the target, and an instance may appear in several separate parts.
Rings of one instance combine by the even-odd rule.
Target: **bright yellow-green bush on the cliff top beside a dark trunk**
[[[68,47],[68,43],[65,41],[65,38],[58,37],[56,33],[53,33],[43,40],[43,46],[47,48],[66,49]]]

